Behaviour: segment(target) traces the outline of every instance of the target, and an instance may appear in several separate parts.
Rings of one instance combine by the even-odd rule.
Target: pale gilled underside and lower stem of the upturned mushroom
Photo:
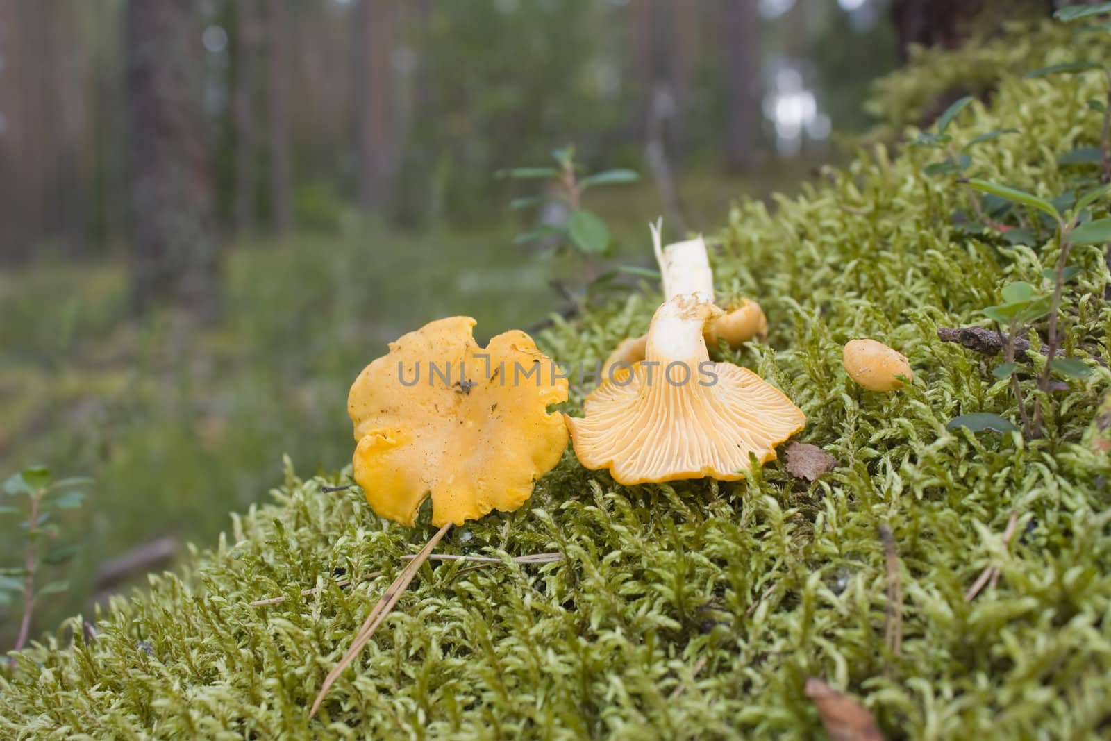
[[[567,418],[584,467],[608,468],[624,485],[735,481],[751,455],[761,464],[774,459],[774,447],[805,427],[782,391],[747,368],[710,362],[702,329],[715,311],[682,297],[657,310],[645,360],[631,377],[604,379],[583,418]]]

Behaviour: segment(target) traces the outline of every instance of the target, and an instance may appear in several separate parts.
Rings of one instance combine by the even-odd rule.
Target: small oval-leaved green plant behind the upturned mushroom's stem
[[[585,177],[579,173],[582,167],[574,161],[574,147],[561,147],[552,151],[557,167],[513,168],[498,172],[499,178],[543,181],[543,190],[534,196],[513,199],[509,208],[517,211],[560,201],[569,211],[563,223],[544,223],[518,234],[513,242],[524,244],[538,240],[552,239],[559,248],[572,247],[584,256],[605,254],[613,242],[605,221],[582,208],[582,194],[600,186],[618,186],[635,182],[639,176],[633,170],[604,170]]]

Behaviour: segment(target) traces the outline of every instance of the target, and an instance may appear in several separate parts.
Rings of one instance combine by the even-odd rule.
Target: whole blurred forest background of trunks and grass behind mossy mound
[[[834,158],[870,81],[980,4],[0,0],[0,473],[94,480],[36,627],[214,542],[283,453],[344,465],[348,387],[402,332],[629,290],[516,244],[567,214],[509,210],[534,181],[498,170],[573,142],[639,171],[591,209],[595,274],[643,263],[657,214],[712,231]]]

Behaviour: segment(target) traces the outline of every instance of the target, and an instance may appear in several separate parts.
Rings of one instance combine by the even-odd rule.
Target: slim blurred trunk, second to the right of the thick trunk
[[[267,0],[269,42],[267,98],[269,103],[270,228],[284,236],[293,224],[293,183],[290,166],[289,59],[292,36],[289,0]]]

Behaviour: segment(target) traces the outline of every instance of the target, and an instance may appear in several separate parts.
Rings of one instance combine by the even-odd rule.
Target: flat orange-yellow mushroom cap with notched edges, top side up
[[[412,525],[429,495],[437,527],[516,510],[567,448],[548,412],[567,379],[524,332],[481,348],[473,326],[450,317],[409,332],[351,385],[354,479],[380,517]]]

